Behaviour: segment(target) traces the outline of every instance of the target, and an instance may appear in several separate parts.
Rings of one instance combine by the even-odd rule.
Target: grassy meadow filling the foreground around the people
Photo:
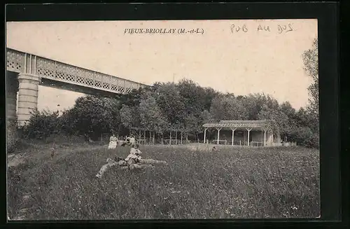
[[[128,147],[28,145],[8,168],[8,216],[25,220],[168,218],[316,218],[319,153],[302,147],[140,146],[143,158],[166,160],[141,171],[111,168],[106,158]]]

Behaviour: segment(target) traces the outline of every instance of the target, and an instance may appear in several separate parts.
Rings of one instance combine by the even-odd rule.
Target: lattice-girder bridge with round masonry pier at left
[[[106,96],[148,86],[10,48],[6,59],[6,116],[8,121],[17,118],[18,127],[25,125],[30,112],[38,107],[38,85]]]

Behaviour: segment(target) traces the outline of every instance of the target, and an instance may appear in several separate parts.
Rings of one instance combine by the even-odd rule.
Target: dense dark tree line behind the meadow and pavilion
[[[141,127],[157,133],[176,128],[200,137],[206,122],[269,119],[281,130],[282,139],[318,147],[317,41],[305,51],[303,60],[314,83],[309,87],[309,105],[299,110],[289,102],[279,104],[269,95],[224,94],[183,79],[176,84],[155,83],[112,98],[80,97],[62,116],[35,111],[25,133],[36,138],[61,132],[97,139],[102,133],[123,134]]]

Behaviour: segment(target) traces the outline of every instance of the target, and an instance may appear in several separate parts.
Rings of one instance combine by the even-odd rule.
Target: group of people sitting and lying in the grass
[[[121,169],[142,169],[146,167],[153,167],[155,164],[167,165],[167,162],[162,160],[141,159],[142,152],[139,150],[139,144],[136,143],[133,136],[126,137],[124,141],[118,140],[118,138],[113,134],[110,138],[109,149],[117,148],[118,142],[120,142],[120,146],[131,146],[130,154],[127,155],[127,158],[125,159],[120,157],[116,157],[114,159],[107,158],[107,163],[103,165],[96,174],[97,178],[101,178],[107,169],[114,166],[119,166]]]

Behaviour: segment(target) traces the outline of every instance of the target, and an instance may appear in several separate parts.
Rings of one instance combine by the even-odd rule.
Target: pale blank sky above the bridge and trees
[[[248,31],[232,32],[232,24]],[[288,24],[293,31],[286,32]],[[280,33],[279,25],[287,29]],[[149,85],[189,78],[235,95],[265,92],[296,109],[307,104],[311,83],[302,53],[317,37],[317,20],[8,22],[6,27],[8,48]],[[176,32],[125,34],[132,28]],[[178,34],[181,28],[204,34]],[[80,95],[41,86],[38,108],[68,108]]]

